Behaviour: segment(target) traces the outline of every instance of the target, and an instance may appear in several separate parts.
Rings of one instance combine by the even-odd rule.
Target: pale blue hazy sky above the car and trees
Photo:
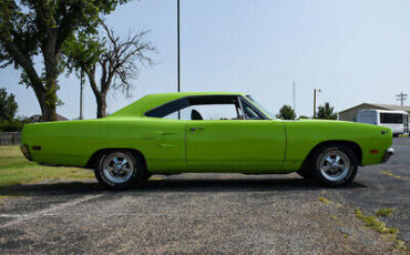
[[[293,105],[312,115],[318,104],[337,111],[361,102],[397,104],[410,92],[408,0],[181,0],[182,90],[238,91],[271,112]],[[141,96],[176,90],[176,0],[141,0],[106,17],[119,34],[151,29],[156,64],[142,70],[133,98],[109,95],[112,113]],[[40,113],[34,93],[19,85],[19,71],[0,70],[0,86],[17,95],[20,115]],[[58,112],[79,116],[79,80],[60,78]],[[410,102],[410,99],[408,100]],[[85,118],[95,99],[85,89]],[[409,104],[409,103],[408,103]]]

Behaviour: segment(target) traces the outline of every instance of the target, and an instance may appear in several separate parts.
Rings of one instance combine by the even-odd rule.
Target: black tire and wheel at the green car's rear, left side
[[[116,175],[113,176],[114,174],[110,172],[106,167],[107,164],[110,165],[111,162],[114,162],[111,159],[115,156],[117,156],[117,159],[123,157],[122,162],[124,162],[124,160],[127,160],[126,161],[127,163],[125,163],[125,167],[127,166],[127,169],[131,170],[125,174],[124,178],[121,181],[119,181],[122,177],[121,174],[119,174],[117,176]],[[122,162],[121,165],[123,164]],[[122,166],[120,170],[115,169],[113,171],[122,171]],[[125,171],[122,172],[125,173]],[[141,155],[121,150],[106,151],[102,153],[98,157],[96,167],[94,170],[94,174],[99,183],[109,190],[126,190],[133,186],[139,186],[143,183],[145,173],[146,173],[145,164]]]

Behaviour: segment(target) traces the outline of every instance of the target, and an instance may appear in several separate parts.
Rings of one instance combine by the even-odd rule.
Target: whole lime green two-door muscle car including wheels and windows
[[[359,165],[388,161],[391,142],[388,128],[274,120],[243,93],[184,92],[150,94],[99,120],[28,124],[21,151],[40,164],[92,169],[109,188],[185,172],[297,172],[342,186]]]

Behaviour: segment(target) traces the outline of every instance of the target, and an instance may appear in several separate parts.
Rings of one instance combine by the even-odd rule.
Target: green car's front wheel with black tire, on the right
[[[340,160],[338,162],[341,162],[341,164],[346,166],[344,170],[340,170],[340,167],[335,165],[329,166],[332,163],[327,159],[336,161],[337,157],[332,157],[334,155],[339,156]],[[327,167],[329,167],[327,170],[329,172],[326,171]],[[320,184],[325,186],[340,187],[346,186],[355,178],[358,169],[358,160],[352,150],[346,145],[328,145],[320,147],[314,153],[310,169],[312,170],[312,175]],[[334,172],[337,173],[331,175]]]

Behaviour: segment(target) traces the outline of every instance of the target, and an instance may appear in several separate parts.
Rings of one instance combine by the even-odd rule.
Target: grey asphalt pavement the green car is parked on
[[[393,147],[345,188],[297,174],[183,174],[126,192],[93,180],[16,186],[0,194],[12,196],[0,201],[0,253],[406,254],[355,216],[393,208],[381,220],[409,245],[410,139]]]

